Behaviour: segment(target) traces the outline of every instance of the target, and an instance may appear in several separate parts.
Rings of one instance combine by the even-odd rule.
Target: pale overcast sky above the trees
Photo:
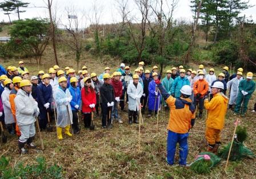
[[[45,0],[46,2],[47,0]],[[100,23],[113,23],[121,21],[121,18],[118,15],[116,4],[116,0],[53,0],[54,6],[57,7],[57,19],[60,19],[59,24],[66,25],[67,24],[67,8],[74,7],[77,12],[78,18],[82,22],[83,14],[91,14],[91,10],[93,9],[93,4],[96,2],[97,8],[102,9]],[[167,0],[171,1],[171,0]],[[246,0],[247,1],[247,0]],[[3,2],[3,0],[0,0]],[[29,8],[26,8],[25,13],[21,13],[20,17],[22,19],[25,18],[48,18],[47,9],[43,8],[46,6],[43,0],[24,0],[23,2],[29,2]],[[256,0],[250,0],[250,5],[256,5]],[[129,9],[133,14],[136,14],[136,7],[134,5],[133,0],[129,0]],[[254,22],[256,22],[256,6],[251,7],[248,10],[245,10],[241,13],[246,17],[253,17]],[[187,19],[187,21],[191,21],[192,13],[190,9],[190,0],[179,0],[177,8],[174,11],[174,19]],[[11,20],[18,19],[17,15],[11,15]],[[3,11],[0,10],[0,21],[8,22],[8,16],[3,14]],[[83,21],[82,26],[88,26],[90,22]],[[61,25],[59,25],[61,26]]]

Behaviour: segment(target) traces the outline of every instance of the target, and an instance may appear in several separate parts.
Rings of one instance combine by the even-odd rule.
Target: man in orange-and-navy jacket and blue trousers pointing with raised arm
[[[168,124],[167,136],[167,163],[174,164],[176,145],[179,143],[179,165],[186,166],[187,161],[187,137],[189,137],[189,129],[195,123],[195,107],[189,99],[192,89],[189,85],[181,88],[181,96],[174,98],[162,86],[159,80],[155,80],[158,85],[163,99],[170,107],[170,118]]]

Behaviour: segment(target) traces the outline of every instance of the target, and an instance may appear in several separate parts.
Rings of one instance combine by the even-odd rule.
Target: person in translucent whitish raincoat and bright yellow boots
[[[65,129],[65,134],[72,136],[69,132],[70,125],[73,124],[73,116],[70,106],[70,101],[73,99],[69,89],[67,89],[67,79],[62,76],[58,80],[59,87],[54,91],[53,98],[57,108],[57,135],[58,139],[62,140],[62,128]],[[68,110],[68,111],[67,111]]]

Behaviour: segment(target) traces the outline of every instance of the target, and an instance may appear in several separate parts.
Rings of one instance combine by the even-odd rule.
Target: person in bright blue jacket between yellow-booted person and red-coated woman
[[[81,91],[78,87],[78,79],[76,77],[72,77],[70,79],[69,92],[71,93],[72,100],[70,101],[72,115],[73,115],[73,132],[79,133],[80,129],[78,127],[78,109],[81,105]]]

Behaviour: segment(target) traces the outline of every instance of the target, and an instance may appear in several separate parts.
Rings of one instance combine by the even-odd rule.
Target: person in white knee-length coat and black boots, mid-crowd
[[[141,83],[139,83],[139,76],[137,74],[133,75],[133,83],[130,83],[127,88],[127,94],[129,97],[129,124],[136,123],[138,124],[138,111],[139,104],[141,101],[141,96],[143,94],[143,89]]]

